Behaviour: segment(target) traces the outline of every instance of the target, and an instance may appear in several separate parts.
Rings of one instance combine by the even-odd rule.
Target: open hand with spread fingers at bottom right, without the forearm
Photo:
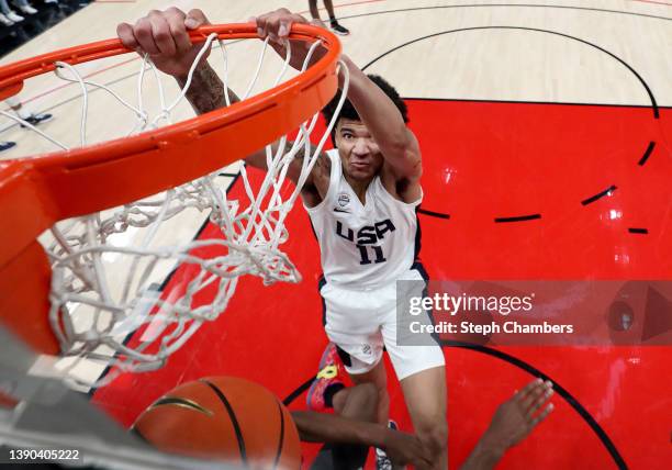
[[[551,382],[531,381],[497,407],[483,440],[501,451],[520,443],[553,411],[552,394]]]

